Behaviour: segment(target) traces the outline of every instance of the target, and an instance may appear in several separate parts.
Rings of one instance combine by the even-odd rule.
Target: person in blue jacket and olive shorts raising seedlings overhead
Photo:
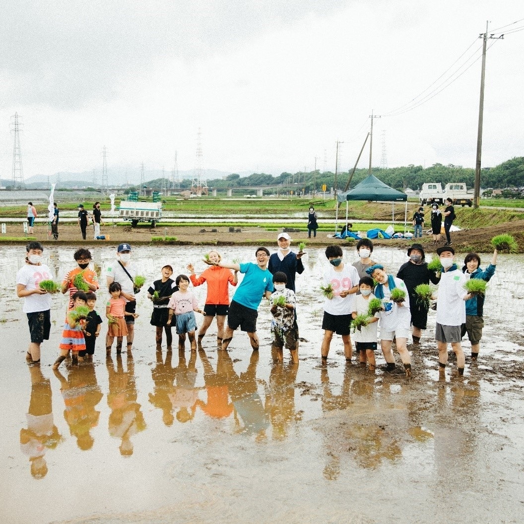
[[[464,267],[462,272],[470,275],[471,279],[481,279],[485,282],[495,275],[497,267],[497,250],[493,252],[491,264],[485,269],[481,269],[481,257],[476,253],[468,253],[464,258]],[[471,361],[476,362],[478,352],[481,346],[482,328],[484,328],[484,294],[475,293],[466,300],[466,322],[461,326],[461,335],[467,333],[467,337],[471,342]]]

